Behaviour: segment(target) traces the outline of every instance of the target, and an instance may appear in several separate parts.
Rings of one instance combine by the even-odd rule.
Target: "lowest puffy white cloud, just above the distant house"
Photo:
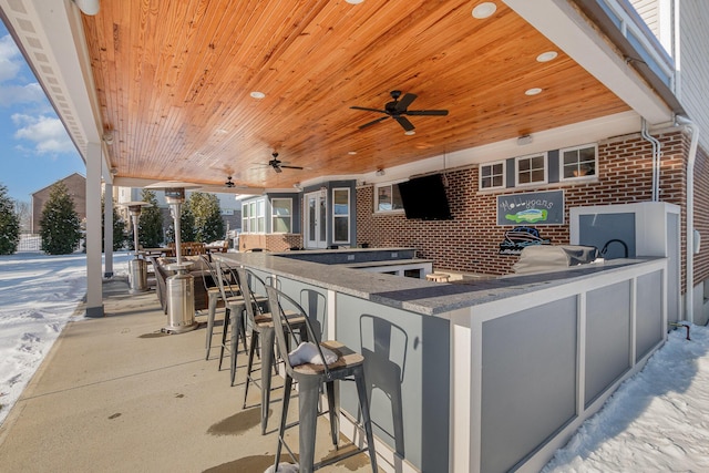
[[[35,153],[59,154],[75,151],[59,119],[16,113],[12,115],[12,122],[20,126],[14,132],[14,137],[34,143]]]

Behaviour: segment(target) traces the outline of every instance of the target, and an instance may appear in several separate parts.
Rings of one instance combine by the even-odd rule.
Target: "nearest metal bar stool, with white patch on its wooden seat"
[[[286,419],[288,415],[288,403],[290,402],[290,391],[294,380],[298,382],[298,410],[299,410],[299,471],[300,473],[309,473],[321,466],[338,462],[348,456],[354,455],[360,452],[369,451],[369,460],[372,466],[372,471],[377,471],[377,452],[374,452],[374,441],[372,436],[371,420],[369,415],[369,402],[367,400],[367,385],[364,382],[364,358],[348,347],[338,341],[323,341],[318,342],[320,338],[314,332],[305,310],[292,298],[288,297],[278,289],[267,286],[266,292],[268,294],[268,300],[271,308],[271,315],[274,317],[274,328],[276,332],[276,340],[278,348],[284,353],[284,363],[286,367],[286,380],[284,385],[282,398],[282,412],[280,415],[280,426],[278,429],[278,446],[276,448],[276,460],[274,469],[278,469],[280,461],[280,450],[286,446],[286,450],[291,454],[292,452],[284,440],[284,432],[286,430]],[[317,353],[310,362],[294,366],[290,357],[287,354],[287,339],[297,338],[297,332],[285,317],[282,309],[284,304],[299,312],[305,317],[306,329],[309,340],[314,340],[312,349]],[[323,349],[327,349],[323,350]],[[335,354],[337,359],[331,362],[327,362],[326,353]],[[319,361],[320,363],[314,362]],[[335,357],[332,357],[335,358]],[[320,394],[320,387],[325,383],[327,388],[328,407],[330,411],[330,434],[332,435],[332,443],[337,448],[339,436],[339,412],[336,412],[335,405],[335,381],[349,380],[354,381],[357,384],[357,394],[359,398],[359,407],[362,413],[362,426],[367,438],[367,449],[356,449],[343,455],[339,455],[335,459],[330,459],[326,462],[315,464],[315,435],[316,423],[318,417],[318,398]]]

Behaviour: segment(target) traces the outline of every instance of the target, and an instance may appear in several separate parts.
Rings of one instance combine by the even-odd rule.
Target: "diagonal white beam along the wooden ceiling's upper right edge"
[[[503,0],[649,123],[672,111],[568,0]]]

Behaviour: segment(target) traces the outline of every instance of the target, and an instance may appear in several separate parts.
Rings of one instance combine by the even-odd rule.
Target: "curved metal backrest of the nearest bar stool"
[[[318,354],[321,360],[325,360],[325,354],[322,353],[322,349],[320,348],[320,337],[312,330],[312,326],[310,325],[310,319],[308,318],[306,311],[300,307],[298,302],[296,302],[291,297],[284,294],[282,291],[276,289],[273,286],[266,286],[266,292],[268,294],[268,305],[270,307],[270,313],[274,318],[274,329],[276,331],[276,342],[278,343],[278,349],[281,353],[284,353],[284,362],[286,366],[286,371],[292,378],[298,379],[299,374],[296,372],[294,367],[290,364],[290,359],[288,357],[288,342],[289,338],[296,340],[296,346],[298,346],[301,341],[305,341],[306,338],[302,337],[299,330],[296,330],[289,321],[288,317],[286,317],[286,311],[284,310],[284,306],[287,309],[295,311],[305,322],[305,327],[307,330],[307,340],[312,340],[314,345],[318,350]],[[322,364],[323,374],[327,380],[330,379],[330,369],[327,363]]]

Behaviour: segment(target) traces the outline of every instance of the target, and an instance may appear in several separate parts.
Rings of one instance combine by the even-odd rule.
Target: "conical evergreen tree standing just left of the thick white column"
[[[81,240],[81,222],[74,209],[74,199],[64,183],[52,186],[40,218],[42,251],[48,255],[73,253]]]

